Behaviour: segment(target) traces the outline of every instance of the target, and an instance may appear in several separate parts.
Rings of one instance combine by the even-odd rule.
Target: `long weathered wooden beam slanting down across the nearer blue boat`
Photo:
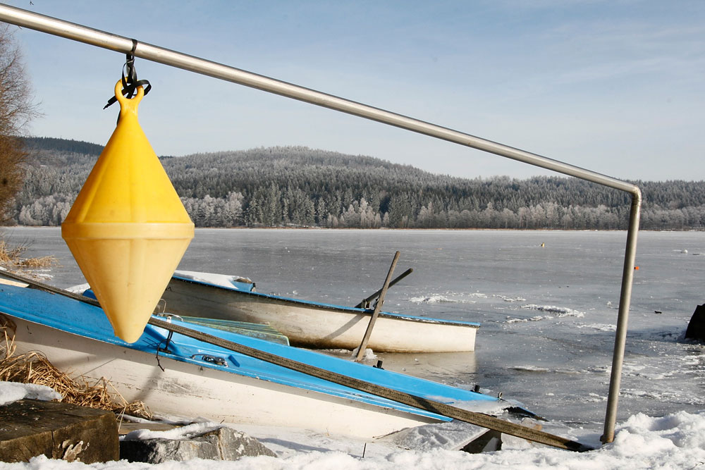
[[[90,297],[85,297],[80,294],[75,294],[73,292],[68,292],[68,290],[63,290],[59,287],[54,287],[53,285],[45,284],[25,276],[8,273],[8,271],[0,271],[0,276],[20,280],[40,290],[46,290],[47,292],[53,292],[55,294],[80,300],[80,302],[99,306],[95,299],[91,299]],[[535,443],[550,445],[552,447],[558,447],[565,450],[573,450],[576,452],[593,450],[592,447],[579,443],[575,440],[561,438],[558,435],[546,433],[545,431],[527,428],[526,426],[521,426],[517,423],[496,418],[495,416],[489,416],[489,414],[471,412],[467,409],[453,407],[450,404],[429,400],[427,398],[419,397],[406,392],[400,392],[399,390],[394,390],[393,388],[384,387],[372,382],[362,381],[358,378],[348,377],[341,373],[327,371],[326,369],[321,369],[316,366],[294,361],[293,359],[281,357],[277,354],[272,354],[271,352],[264,352],[253,347],[240,345],[236,342],[223,340],[223,338],[218,338],[214,335],[191,330],[190,328],[185,328],[174,323],[167,323],[166,321],[152,318],[149,319],[149,324],[152,326],[158,326],[159,328],[164,328],[165,330],[173,333],[188,336],[189,338],[193,338],[195,340],[223,347],[227,350],[239,352],[240,354],[246,354],[247,356],[255,357],[256,359],[267,361],[271,364],[286,367],[287,369],[292,369],[293,371],[305,373],[309,376],[322,378],[326,381],[337,383],[338,385],[344,385],[345,387],[354,388],[355,390],[361,390],[363,392],[371,393],[372,395],[377,395],[378,397],[388,398],[389,400],[393,400],[398,403],[407,404],[411,407],[416,407],[419,409],[425,409],[429,412],[434,412],[443,416],[448,416],[448,418],[465,421],[466,423],[471,423],[476,426],[482,426],[483,428],[492,429],[500,433],[514,435],[517,438],[531,440]]]

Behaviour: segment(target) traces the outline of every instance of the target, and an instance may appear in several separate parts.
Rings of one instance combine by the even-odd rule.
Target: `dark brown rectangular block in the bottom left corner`
[[[0,462],[28,462],[42,454],[85,464],[119,459],[115,414],[39,400],[1,406]]]

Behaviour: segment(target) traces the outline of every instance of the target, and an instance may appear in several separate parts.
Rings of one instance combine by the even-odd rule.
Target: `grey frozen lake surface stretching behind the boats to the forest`
[[[84,283],[59,228],[6,228],[27,256],[54,254],[49,283]],[[465,354],[379,354],[396,369],[517,400],[547,430],[601,432],[624,232],[199,229],[179,268],[247,276],[259,292],[354,305],[381,287],[385,309],[479,321]],[[705,233],[639,234],[618,420],[705,409],[705,347],[679,340],[705,303]],[[569,431],[572,432],[572,431]]]

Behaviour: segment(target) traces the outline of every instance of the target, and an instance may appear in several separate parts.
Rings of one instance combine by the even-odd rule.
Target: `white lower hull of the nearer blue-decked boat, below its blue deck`
[[[286,426],[369,439],[435,419],[239,376],[73,335],[14,316],[18,353],[39,350],[71,376],[106,378],[125,400],[166,416]]]

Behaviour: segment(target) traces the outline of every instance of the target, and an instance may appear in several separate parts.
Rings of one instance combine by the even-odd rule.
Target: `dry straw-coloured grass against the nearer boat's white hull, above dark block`
[[[62,402],[152,419],[143,402],[128,403],[106,378],[91,385],[83,377],[75,380],[56,369],[41,352],[15,354],[15,330],[14,323],[0,315],[0,381],[47,385],[61,393]]]

